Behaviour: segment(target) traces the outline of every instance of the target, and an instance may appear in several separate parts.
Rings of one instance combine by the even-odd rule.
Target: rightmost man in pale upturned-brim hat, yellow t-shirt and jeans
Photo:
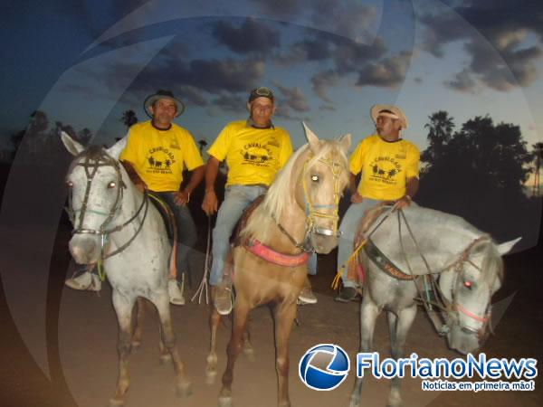
[[[353,241],[364,213],[382,202],[397,202],[399,208],[411,203],[419,186],[420,152],[400,132],[407,128],[404,112],[392,105],[375,105],[371,118],[376,134],[363,139],[349,159],[351,205],[341,221],[338,245],[338,270],[345,265],[341,279],[343,289],[336,301],[348,302],[357,298],[357,282],[348,279],[348,259],[353,252]],[[362,172],[356,187],[356,176]]]

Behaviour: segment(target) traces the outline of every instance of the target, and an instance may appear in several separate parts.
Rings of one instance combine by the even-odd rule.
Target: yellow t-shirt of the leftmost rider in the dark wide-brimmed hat
[[[129,161],[151,191],[178,191],[184,166],[190,171],[204,165],[194,138],[175,123],[167,130],[150,121],[138,123],[127,137],[119,159]]]

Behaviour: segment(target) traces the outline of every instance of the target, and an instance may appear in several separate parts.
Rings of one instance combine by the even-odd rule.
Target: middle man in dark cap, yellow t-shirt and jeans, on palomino
[[[209,160],[205,169],[202,209],[208,215],[217,212],[218,208],[214,184],[219,165],[226,159],[228,166],[224,202],[218,208],[213,231],[213,264],[209,277],[214,306],[221,315],[228,315],[233,308],[232,279],[231,276],[223,276],[233,228],[243,210],[258,196],[265,194],[292,154],[289,133],[271,123],[275,99],[270,89],[261,87],[252,90],[247,110],[250,112],[249,118],[226,125],[207,150]],[[315,303],[317,298],[314,298],[310,287],[306,287],[305,297],[301,299]]]

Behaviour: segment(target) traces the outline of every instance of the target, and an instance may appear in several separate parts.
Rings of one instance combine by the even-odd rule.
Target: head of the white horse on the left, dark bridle
[[[64,132],[61,137],[64,147],[75,156],[66,175],[68,212],[74,227],[70,252],[76,262],[93,264],[103,256],[127,185],[127,175],[118,161],[126,139],[104,149],[84,148]]]

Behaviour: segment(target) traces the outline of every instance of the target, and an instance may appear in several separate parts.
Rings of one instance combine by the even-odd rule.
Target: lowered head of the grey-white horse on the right
[[[503,261],[520,240],[499,245],[482,236],[472,242],[461,259],[443,271],[439,284],[445,303],[447,342],[452,349],[467,354],[481,347],[491,324],[491,298],[503,282]]]

